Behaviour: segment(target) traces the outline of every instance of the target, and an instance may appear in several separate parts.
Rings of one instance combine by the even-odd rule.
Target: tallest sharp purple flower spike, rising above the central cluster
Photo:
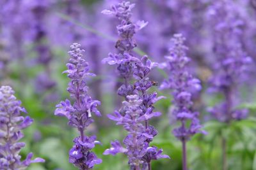
[[[111,10],[102,11],[105,15],[115,15],[121,22],[116,27],[120,39],[116,41],[115,46],[119,53],[109,53],[109,56],[102,61],[110,65],[117,64],[118,74],[124,79],[124,84],[118,89],[118,95],[123,97],[133,94],[129,80],[132,78],[135,63],[139,61],[132,53],[132,49],[136,47],[133,36],[147,25],[144,21],[136,24],[131,22],[131,10],[134,6],[135,4],[130,2],[122,2],[112,6]]]

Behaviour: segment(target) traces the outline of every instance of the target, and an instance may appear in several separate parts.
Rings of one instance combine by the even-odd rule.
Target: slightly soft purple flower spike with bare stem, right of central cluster
[[[171,74],[168,80],[161,85],[161,89],[172,89],[173,91],[175,108],[172,113],[176,120],[181,122],[180,127],[173,129],[173,134],[182,141],[183,169],[186,170],[186,141],[194,134],[204,133],[204,131],[200,130],[202,126],[198,120],[199,113],[191,109],[193,105],[192,92],[200,90],[201,85],[200,80],[194,78],[188,71],[190,59],[186,56],[188,47],[184,45],[184,41],[185,38],[182,34],[174,34],[170,56],[166,57],[167,62],[164,64]]]

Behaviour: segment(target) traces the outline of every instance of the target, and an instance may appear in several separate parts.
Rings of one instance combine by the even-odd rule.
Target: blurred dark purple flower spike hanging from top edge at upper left
[[[49,29],[47,27],[48,13],[51,10],[51,2],[49,0],[35,0],[24,2],[29,10],[29,37],[33,42],[33,49],[36,52],[36,64],[42,64],[44,71],[39,73],[35,78],[35,91],[37,94],[53,90],[56,87],[56,81],[51,78],[51,61],[52,52],[49,41]],[[56,99],[57,93],[51,93],[45,96],[44,103],[50,103]]]

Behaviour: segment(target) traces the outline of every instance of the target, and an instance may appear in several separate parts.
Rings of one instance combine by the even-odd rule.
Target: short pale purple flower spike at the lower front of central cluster
[[[111,120],[123,125],[124,129],[128,131],[128,135],[123,141],[125,148],[118,141],[115,141],[111,143],[112,147],[107,149],[104,154],[125,153],[129,158],[129,165],[139,167],[143,155],[147,152],[148,143],[146,139],[152,138],[152,136],[145,133],[145,127],[142,124],[145,120],[141,119],[142,110],[140,105],[142,101],[139,96],[127,96],[127,99],[128,101],[123,102],[121,113],[116,111],[115,115],[109,115]]]

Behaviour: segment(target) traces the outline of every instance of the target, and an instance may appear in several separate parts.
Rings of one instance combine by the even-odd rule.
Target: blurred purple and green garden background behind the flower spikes
[[[220,1],[220,0],[218,0]],[[248,79],[239,85],[236,92],[236,107],[249,110],[244,120],[223,124],[214,120],[207,108],[223,100],[218,93],[209,93],[208,80],[214,72],[212,66],[216,56],[212,52],[214,20],[211,6],[218,2],[211,0],[131,0],[136,3],[132,20],[148,21],[147,27],[136,34],[137,55],[147,54],[156,62],[163,62],[168,55],[170,38],[182,33],[189,46],[192,59],[191,72],[203,84],[200,94],[195,96],[195,110],[199,110],[200,120],[206,136],[196,134],[188,142],[189,169],[221,169],[221,138],[227,138],[228,167],[233,170],[256,170],[256,3],[249,0],[230,1],[234,7],[232,15],[243,22],[240,29],[244,52],[253,59],[246,76]],[[16,96],[22,101],[28,114],[35,121],[24,131],[26,147],[22,155],[35,153],[46,160],[44,164],[33,164],[29,170],[71,170],[76,169],[68,163],[68,150],[72,139],[77,136],[76,129],[67,125],[64,117],[55,117],[55,105],[68,97],[66,91],[68,78],[65,71],[69,46],[80,43],[86,50],[85,57],[90,63],[95,78],[88,81],[94,99],[102,102],[102,117],[95,118],[86,134],[97,134],[102,146],[93,151],[103,160],[95,169],[129,169],[127,157],[118,154],[102,155],[111,140],[122,140],[126,134],[122,127],[115,125],[106,117],[120,106],[122,99],[116,95],[120,85],[115,69],[101,60],[109,52],[115,52],[116,18],[102,15],[118,0],[0,0],[0,84],[11,85]],[[220,16],[219,16],[220,18]],[[237,21],[237,22],[238,22]],[[236,25],[236,22],[231,22]],[[161,83],[167,74],[156,69],[152,80]],[[170,91],[159,91],[166,99],[156,104],[162,116],[150,122],[159,134],[152,145],[163,148],[171,159],[156,160],[152,169],[181,169],[181,143],[175,139],[175,127],[170,108]]]

